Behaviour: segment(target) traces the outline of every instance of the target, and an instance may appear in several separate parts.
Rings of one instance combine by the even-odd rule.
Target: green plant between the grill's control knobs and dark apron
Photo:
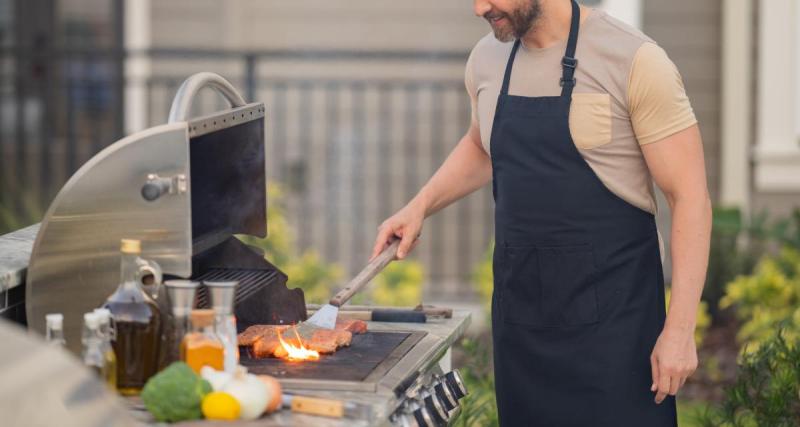
[[[499,421],[491,363],[492,346],[474,338],[464,338],[460,344],[466,358],[461,374],[469,394],[461,401],[461,415],[454,425],[497,426]]]

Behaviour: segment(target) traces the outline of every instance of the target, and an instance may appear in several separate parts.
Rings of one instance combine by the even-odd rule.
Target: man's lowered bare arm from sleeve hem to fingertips
[[[656,402],[678,389],[697,368],[694,330],[711,238],[711,200],[697,125],[642,146],[656,184],[672,212],[672,296],[651,364]]]

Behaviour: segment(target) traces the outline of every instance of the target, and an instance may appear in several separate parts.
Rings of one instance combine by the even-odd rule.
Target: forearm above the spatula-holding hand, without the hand
[[[422,209],[428,217],[492,179],[491,160],[472,135],[468,132],[461,138],[409,205]]]

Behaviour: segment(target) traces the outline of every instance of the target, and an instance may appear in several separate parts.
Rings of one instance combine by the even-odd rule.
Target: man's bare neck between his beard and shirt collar
[[[525,47],[544,49],[569,37],[572,20],[571,0],[542,0],[542,14],[533,27],[522,37]],[[581,23],[588,9],[580,6]]]

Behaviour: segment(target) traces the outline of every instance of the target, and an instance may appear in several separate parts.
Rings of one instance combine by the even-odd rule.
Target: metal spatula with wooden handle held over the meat
[[[339,291],[331,300],[323,305],[308,320],[297,325],[297,332],[303,340],[308,340],[314,335],[317,329],[333,329],[336,326],[336,318],[339,316],[339,307],[344,305],[350,298],[360,291],[370,280],[381,272],[397,255],[397,248],[400,246],[400,239],[395,239],[386,249],[361,270],[347,286]]]

